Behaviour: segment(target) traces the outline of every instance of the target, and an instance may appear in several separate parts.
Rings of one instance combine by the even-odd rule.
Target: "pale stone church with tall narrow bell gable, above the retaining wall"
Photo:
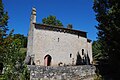
[[[32,9],[26,63],[40,66],[92,64],[92,43],[87,32],[36,22]]]

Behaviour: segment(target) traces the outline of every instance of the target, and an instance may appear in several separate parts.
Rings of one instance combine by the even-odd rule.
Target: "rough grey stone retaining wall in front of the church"
[[[30,80],[93,80],[95,67],[92,65],[82,66],[28,66]]]

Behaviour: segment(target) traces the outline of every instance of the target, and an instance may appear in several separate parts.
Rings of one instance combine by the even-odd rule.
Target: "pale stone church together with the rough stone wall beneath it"
[[[87,32],[38,24],[32,9],[25,59],[30,80],[93,80],[92,61]]]

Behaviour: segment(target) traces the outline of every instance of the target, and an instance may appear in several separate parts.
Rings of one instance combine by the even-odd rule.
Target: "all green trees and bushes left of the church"
[[[4,65],[0,80],[29,80],[29,71],[24,64],[26,52],[21,51],[27,44],[27,38],[20,34],[13,35],[14,30],[6,35],[7,22],[8,15],[0,0],[0,63]]]

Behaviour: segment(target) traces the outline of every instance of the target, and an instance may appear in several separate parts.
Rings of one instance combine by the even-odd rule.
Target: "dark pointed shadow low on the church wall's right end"
[[[88,54],[84,54],[83,58],[80,56],[80,53],[77,53],[76,65],[90,65],[90,58]]]

